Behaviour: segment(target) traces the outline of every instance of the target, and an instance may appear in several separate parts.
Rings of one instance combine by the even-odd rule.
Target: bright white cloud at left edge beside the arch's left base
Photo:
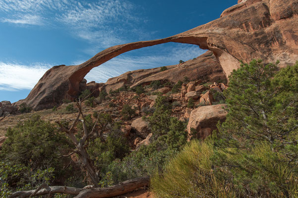
[[[0,90],[32,89],[49,68],[45,64],[26,66],[0,62]]]

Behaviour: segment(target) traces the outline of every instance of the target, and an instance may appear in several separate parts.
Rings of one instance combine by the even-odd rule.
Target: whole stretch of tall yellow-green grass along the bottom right
[[[269,144],[216,148],[192,141],[151,178],[157,198],[298,198],[298,168]]]

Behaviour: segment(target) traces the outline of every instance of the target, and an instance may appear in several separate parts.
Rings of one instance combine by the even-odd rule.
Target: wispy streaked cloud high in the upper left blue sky
[[[127,0],[0,0],[0,21],[67,27],[74,37],[103,49],[125,43],[127,33],[142,36],[136,27],[144,20],[135,9]]]

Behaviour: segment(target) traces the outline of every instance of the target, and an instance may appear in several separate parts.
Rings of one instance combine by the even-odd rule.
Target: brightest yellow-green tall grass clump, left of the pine
[[[151,189],[157,198],[235,198],[235,193],[213,174],[213,143],[192,141],[166,167],[156,172]]]

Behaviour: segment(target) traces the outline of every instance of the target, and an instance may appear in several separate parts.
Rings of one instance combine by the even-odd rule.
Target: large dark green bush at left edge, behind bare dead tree
[[[63,170],[60,150],[71,145],[64,134],[39,116],[9,128],[6,136],[0,153],[0,178],[7,188],[28,189],[67,171]]]

